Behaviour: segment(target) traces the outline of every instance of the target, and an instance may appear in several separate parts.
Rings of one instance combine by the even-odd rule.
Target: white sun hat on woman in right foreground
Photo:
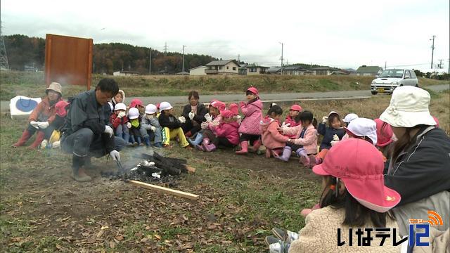
[[[428,110],[430,93],[414,86],[399,86],[392,93],[390,105],[380,119],[391,126],[413,127],[419,124],[434,126],[435,119]]]

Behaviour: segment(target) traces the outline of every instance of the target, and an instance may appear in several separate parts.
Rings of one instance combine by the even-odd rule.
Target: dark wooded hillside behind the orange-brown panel
[[[45,39],[14,34],[4,36],[4,41],[11,70],[44,70]],[[181,53],[164,53],[152,49],[151,54],[152,74],[181,72],[183,66]],[[212,60],[217,58],[185,54],[184,71],[188,72],[190,68],[205,65]],[[122,43],[94,44],[94,73],[113,74],[118,70],[127,70],[148,74],[149,63],[150,48]]]

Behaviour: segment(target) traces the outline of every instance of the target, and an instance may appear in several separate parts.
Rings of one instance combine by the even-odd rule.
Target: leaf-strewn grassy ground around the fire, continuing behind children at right
[[[318,118],[330,110],[375,118],[389,100],[375,96],[301,105]],[[447,134],[449,103],[449,91],[432,93],[430,111]],[[176,144],[162,152],[197,168],[182,176],[176,189],[200,195],[199,201],[103,179],[98,170],[88,171],[94,181],[77,183],[69,177],[70,155],[11,148],[25,119],[0,119],[0,247],[5,252],[265,252],[264,237],[272,227],[300,230],[300,210],[319,200],[319,176],[296,158],[283,163]],[[127,148],[123,162],[136,164],[131,155],[140,152],[148,150]],[[105,158],[93,162],[115,170]]]

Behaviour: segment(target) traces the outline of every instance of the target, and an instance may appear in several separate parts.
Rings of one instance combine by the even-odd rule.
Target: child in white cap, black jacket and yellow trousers
[[[160,126],[162,128],[167,128],[162,131],[162,145],[164,147],[169,147],[170,140],[178,137],[178,141],[182,148],[190,148],[188,141],[186,141],[186,136],[184,136],[183,129],[181,129],[181,123],[186,122],[186,118],[181,116],[176,119],[176,117],[172,115],[174,109],[168,102],[161,102],[160,110]]]

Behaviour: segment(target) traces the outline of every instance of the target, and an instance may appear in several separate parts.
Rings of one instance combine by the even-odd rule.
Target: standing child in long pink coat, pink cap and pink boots
[[[259,122],[262,119],[262,101],[259,99],[258,90],[255,87],[247,89],[247,103],[240,102],[240,111],[244,115],[244,119],[240,122],[240,150],[236,151],[236,155],[247,155],[248,141],[253,145],[253,151],[257,151],[261,146],[261,129]]]

